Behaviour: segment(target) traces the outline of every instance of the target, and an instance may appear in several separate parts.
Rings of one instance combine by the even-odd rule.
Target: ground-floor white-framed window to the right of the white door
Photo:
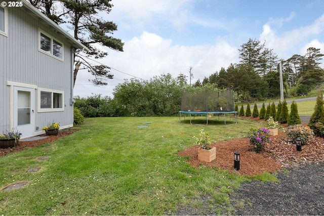
[[[47,89],[38,89],[39,112],[63,111],[64,93],[61,91],[52,91]]]

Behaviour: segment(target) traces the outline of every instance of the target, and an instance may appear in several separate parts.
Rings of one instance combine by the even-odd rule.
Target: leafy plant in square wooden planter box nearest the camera
[[[210,134],[204,132],[204,129],[199,130],[199,137],[193,137],[199,145],[198,159],[211,162],[216,158],[216,147],[210,147]]]

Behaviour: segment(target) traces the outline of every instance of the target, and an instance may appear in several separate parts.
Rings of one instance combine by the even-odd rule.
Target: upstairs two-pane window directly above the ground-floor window
[[[63,44],[41,30],[39,30],[39,51],[63,60]]]

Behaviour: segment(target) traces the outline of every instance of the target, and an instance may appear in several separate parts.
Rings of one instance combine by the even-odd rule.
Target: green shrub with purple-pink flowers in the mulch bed
[[[253,151],[256,153],[259,153],[262,151],[264,146],[267,143],[271,142],[270,139],[270,131],[267,128],[261,127],[261,128],[253,128],[251,127],[248,137],[250,139],[250,145],[253,148]]]

